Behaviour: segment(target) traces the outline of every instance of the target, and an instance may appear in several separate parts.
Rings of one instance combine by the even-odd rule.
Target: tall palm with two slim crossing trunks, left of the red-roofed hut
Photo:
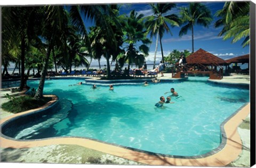
[[[163,45],[162,45],[162,38],[164,36],[165,31],[170,32],[171,30],[168,27],[167,23],[169,23],[172,27],[179,26],[180,20],[177,15],[175,14],[169,14],[166,15],[167,12],[169,12],[173,7],[175,7],[175,4],[150,4],[151,10],[153,11],[153,16],[146,17],[146,27],[148,27],[148,31],[150,31],[150,37],[153,36],[156,37],[156,49],[155,49],[155,56],[154,56],[154,66],[156,63],[156,52],[158,47],[158,36],[160,37],[160,46],[161,46],[161,53],[162,53],[162,61],[164,63],[164,54],[163,54]],[[172,33],[171,33],[172,35]]]

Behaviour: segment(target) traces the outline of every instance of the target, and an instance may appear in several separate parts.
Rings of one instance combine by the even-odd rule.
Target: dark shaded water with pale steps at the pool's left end
[[[100,129],[108,125],[113,118],[129,125],[129,127],[138,128],[140,121],[137,119],[143,117],[143,113],[138,113],[138,117],[134,117],[134,114],[130,113],[131,111],[138,110],[133,105],[111,102],[110,100],[103,100],[97,103],[90,102],[90,100],[83,96],[83,93],[78,93],[75,90],[54,89],[51,91],[51,94],[59,97],[59,103],[49,109],[49,113],[40,114],[41,112],[39,112],[36,117],[26,116],[27,121],[25,123],[14,121],[15,124],[12,125],[12,128],[9,128],[11,131],[7,130],[4,132],[3,130],[4,135],[17,139],[42,139],[66,136],[70,135],[72,129],[82,127],[81,123],[85,120],[92,124],[92,128]],[[75,102],[77,101],[77,103],[73,104],[63,98],[71,94],[76,94]],[[10,125],[7,127],[10,127]]]

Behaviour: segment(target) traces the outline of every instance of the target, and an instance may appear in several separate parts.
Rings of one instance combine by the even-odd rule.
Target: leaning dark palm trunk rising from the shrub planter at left
[[[43,65],[43,69],[42,69],[42,73],[41,73],[41,79],[40,79],[38,88],[36,90],[36,94],[34,96],[35,99],[41,99],[43,97],[44,81],[45,81],[45,75],[47,73],[47,66],[49,63],[50,54],[51,54],[51,47],[49,46],[47,48],[47,54],[46,54],[45,63]]]

